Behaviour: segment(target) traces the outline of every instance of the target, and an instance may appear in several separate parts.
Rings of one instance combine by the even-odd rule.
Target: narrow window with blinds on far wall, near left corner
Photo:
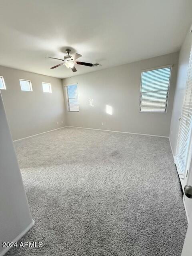
[[[69,112],[79,111],[79,102],[77,94],[77,84],[71,84],[66,86],[67,92],[67,108]]]

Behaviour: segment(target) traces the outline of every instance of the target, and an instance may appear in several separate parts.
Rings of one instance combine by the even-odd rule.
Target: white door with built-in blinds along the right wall
[[[182,113],[179,118],[180,126],[176,147],[175,164],[180,176],[182,188],[186,185],[190,159],[192,157],[191,134],[192,134],[192,49],[188,65],[188,75],[186,80],[186,92],[182,106]]]

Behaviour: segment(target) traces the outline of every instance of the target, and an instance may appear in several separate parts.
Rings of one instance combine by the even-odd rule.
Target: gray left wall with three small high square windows
[[[6,84],[1,93],[13,140],[66,126],[61,79],[3,66],[0,76]],[[21,91],[20,78],[31,80],[33,92]],[[43,92],[42,82],[51,83],[52,93]]]

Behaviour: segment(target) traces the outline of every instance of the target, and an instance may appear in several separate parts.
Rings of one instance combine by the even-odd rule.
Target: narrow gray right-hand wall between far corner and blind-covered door
[[[184,100],[191,45],[192,45],[192,33],[188,32],[184,40],[184,43],[182,44],[182,48],[179,54],[178,76],[177,76],[177,82],[176,82],[174,105],[173,105],[172,119],[171,119],[171,125],[170,125],[170,143],[171,143],[174,155],[176,153],[176,144],[177,144],[177,137],[178,137],[178,130],[179,130],[178,119],[181,114],[182,104]]]

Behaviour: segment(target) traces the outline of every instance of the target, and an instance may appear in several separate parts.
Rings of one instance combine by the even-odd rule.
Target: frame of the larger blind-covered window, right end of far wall
[[[141,70],[141,78],[140,78],[140,94],[139,94],[139,113],[161,113],[161,114],[166,114],[167,109],[168,109],[168,100],[169,100],[169,91],[170,91],[170,80],[171,80],[171,72],[172,72],[172,67],[173,64],[170,65],[165,65],[165,66],[159,66],[155,68],[148,68],[148,69],[143,69]],[[153,70],[159,70],[159,69],[164,69],[164,68],[170,68],[170,76],[169,76],[169,86],[168,86],[168,94],[167,94],[167,103],[166,103],[166,111],[140,111],[141,109],[141,94],[142,94],[142,73],[143,72],[148,72],[148,71],[153,71]],[[150,92],[156,91],[156,90],[150,90]]]

